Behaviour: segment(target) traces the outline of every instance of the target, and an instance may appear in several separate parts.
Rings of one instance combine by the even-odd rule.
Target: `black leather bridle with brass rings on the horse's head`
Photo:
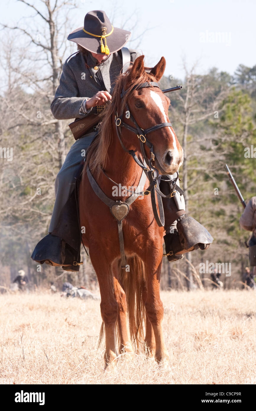
[[[149,81],[149,82],[146,82],[146,83],[142,83],[140,85],[135,85],[129,91],[131,92],[133,90],[138,90],[140,88],[146,88],[146,87],[157,87],[157,88],[159,88],[159,84],[155,81]],[[122,90],[121,95],[120,95],[121,99],[125,96],[127,91],[128,90],[126,90],[126,91]],[[178,185],[176,185],[177,180],[179,178],[178,171],[177,171],[177,177],[176,178],[165,180],[170,184],[170,188],[172,190],[171,193],[168,194],[168,195],[164,195],[160,191],[159,182],[158,182],[159,172],[152,165],[152,162],[155,160],[155,153],[154,153],[154,150],[153,150],[153,145],[147,139],[146,136],[148,134],[154,132],[154,131],[157,131],[157,130],[163,128],[163,127],[172,127],[172,124],[171,124],[171,122],[168,122],[168,123],[162,122],[160,124],[156,124],[156,125],[154,125],[152,127],[149,127],[147,129],[142,129],[141,127],[139,127],[138,123],[136,122],[133,115],[131,114],[131,111],[129,109],[128,104],[126,104],[126,106],[125,106],[125,118],[130,119],[134,123],[135,127],[132,127],[129,124],[127,124],[126,122],[124,122],[123,121],[123,115],[124,115],[124,112],[122,112],[120,115],[118,115],[118,113],[116,113],[116,115],[115,115],[115,129],[116,129],[118,139],[120,141],[122,149],[125,152],[129,153],[133,157],[136,164],[138,164],[138,166],[140,166],[143,169],[143,171],[145,172],[145,174],[147,175],[147,177],[150,181],[150,185],[148,186],[148,188],[146,190],[144,190],[144,192],[142,194],[144,194],[144,195],[151,194],[152,208],[153,208],[155,219],[157,221],[157,224],[160,227],[163,227],[164,226],[164,212],[163,212],[161,197],[164,197],[164,198],[173,197],[175,195],[176,191],[178,191],[178,192],[180,192],[180,194],[184,195],[184,192],[183,192],[182,189],[180,189],[180,187]],[[121,135],[120,135],[120,132],[119,132],[119,127],[125,127],[127,130],[137,134],[138,139],[140,140],[141,153],[143,155],[144,162],[147,164],[148,167],[145,167],[145,163],[141,162],[141,160],[137,157],[136,151],[127,150],[127,148],[125,147],[125,145],[122,142]],[[150,159],[148,159],[148,156],[147,156],[147,153],[146,153],[146,150],[145,150],[145,144],[149,148]],[[160,177],[160,179],[161,179],[161,177]],[[155,191],[157,192],[159,215],[158,215],[157,205],[156,205],[156,201],[155,201]]]

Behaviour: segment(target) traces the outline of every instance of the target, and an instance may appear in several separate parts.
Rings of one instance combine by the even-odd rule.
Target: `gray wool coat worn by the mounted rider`
[[[140,55],[138,51],[129,49],[131,62]],[[88,55],[88,65],[97,66],[97,60]],[[100,66],[105,89],[112,95],[114,83],[117,76],[122,70],[122,57],[116,52],[110,55],[106,62]],[[72,118],[85,117],[79,114],[81,105],[85,98],[93,97],[98,91],[101,91],[101,85],[95,77],[97,70],[94,67],[85,67],[85,56],[80,52],[74,53],[65,61],[60,76],[60,85],[58,86],[51,111],[53,116],[58,120],[67,120]],[[87,113],[88,115],[88,113]]]

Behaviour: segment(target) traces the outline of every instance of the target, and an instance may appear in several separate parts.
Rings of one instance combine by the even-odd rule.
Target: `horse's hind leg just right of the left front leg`
[[[118,267],[114,269],[114,293],[118,303],[118,330],[120,336],[119,353],[133,353],[127,321],[127,302],[125,291],[118,276]]]

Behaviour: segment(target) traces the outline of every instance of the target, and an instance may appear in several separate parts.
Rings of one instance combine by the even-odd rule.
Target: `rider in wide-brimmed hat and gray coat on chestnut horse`
[[[68,40],[78,45],[78,51],[65,61],[51,111],[58,120],[86,117],[92,108],[97,110],[111,100],[115,80],[123,65],[140,55],[138,51],[123,48],[131,33],[111,25],[101,10],[88,12],[84,26],[71,32]],[[127,59],[127,54],[129,58]],[[99,107],[101,106],[101,107]],[[49,234],[32,253],[39,263],[62,266],[66,271],[79,271],[81,232],[76,207],[76,180],[83,164],[82,152],[86,150],[98,131],[91,129],[78,139],[69,150],[55,181],[56,200],[51,217]],[[176,174],[171,178],[175,178]],[[163,179],[170,179],[164,176]],[[171,194],[168,181],[161,180],[160,189]],[[191,217],[185,217],[182,194],[163,199],[166,235],[166,254],[169,261],[182,258],[182,253],[198,247],[205,249],[212,242],[208,231]],[[177,223],[178,220],[178,223]],[[177,224],[177,228],[176,228]],[[209,237],[210,236],[210,237]]]

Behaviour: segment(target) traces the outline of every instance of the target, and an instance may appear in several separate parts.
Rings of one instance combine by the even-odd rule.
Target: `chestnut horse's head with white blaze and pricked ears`
[[[124,90],[126,92],[126,103],[129,111],[136,120],[138,126],[142,129],[148,129],[154,125],[161,123],[170,123],[168,118],[168,107],[170,99],[158,87],[143,87],[136,88],[136,85],[141,85],[145,82],[158,82],[164,74],[166,60],[164,57],[153,67],[150,72],[145,70],[144,56],[136,58],[133,66],[127,71],[124,76]],[[124,102],[122,109],[125,107]],[[125,118],[124,121],[134,126],[131,120]],[[147,139],[153,145],[155,154],[155,168],[160,174],[173,174],[177,172],[183,162],[183,150],[173,130],[173,127],[162,127],[158,130],[150,132]],[[129,143],[134,143],[139,150],[139,140],[134,135],[131,142],[131,133],[129,134]],[[149,155],[149,150],[145,146],[146,152]]]

